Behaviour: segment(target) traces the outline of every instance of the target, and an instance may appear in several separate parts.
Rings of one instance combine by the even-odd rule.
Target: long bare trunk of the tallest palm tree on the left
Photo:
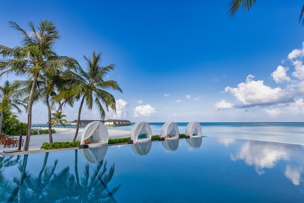
[[[31,130],[32,130],[32,107],[33,107],[33,98],[34,98],[34,90],[36,88],[36,83],[38,80],[38,73],[34,76],[33,84],[32,84],[32,89],[30,92],[29,96],[29,109],[28,109],[28,128],[26,132],[26,139],[25,139],[25,144],[24,144],[24,151],[29,150],[30,146],[30,139],[31,139]]]

